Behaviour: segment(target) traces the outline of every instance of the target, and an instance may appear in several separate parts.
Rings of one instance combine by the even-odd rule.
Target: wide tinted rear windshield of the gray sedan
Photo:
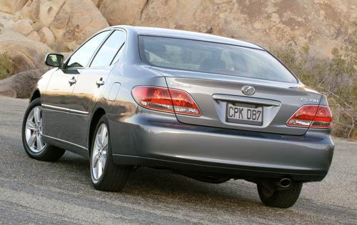
[[[296,78],[264,50],[207,41],[139,36],[139,51],[141,59],[153,66],[296,83]]]

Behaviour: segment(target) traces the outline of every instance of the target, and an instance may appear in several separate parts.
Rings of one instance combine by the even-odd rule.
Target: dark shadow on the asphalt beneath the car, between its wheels
[[[91,185],[88,159],[66,153],[58,164],[61,164],[62,169],[68,170],[66,174],[76,174],[74,179],[77,182],[81,181],[84,185],[88,185],[89,189],[94,189]],[[159,201],[176,201],[176,204],[184,202],[197,205],[206,204],[205,201],[219,202],[221,208],[229,204],[262,206],[258,199],[256,185],[247,181],[231,179],[223,184],[208,184],[175,174],[169,169],[147,167],[131,172],[123,191],[109,195],[113,194],[118,196],[129,194]]]

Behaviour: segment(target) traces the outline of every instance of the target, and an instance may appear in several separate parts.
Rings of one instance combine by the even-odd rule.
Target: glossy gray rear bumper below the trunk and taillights
[[[321,181],[334,144],[329,134],[263,134],[181,124],[174,116],[110,116],[116,164],[206,172],[238,179],[291,177]]]

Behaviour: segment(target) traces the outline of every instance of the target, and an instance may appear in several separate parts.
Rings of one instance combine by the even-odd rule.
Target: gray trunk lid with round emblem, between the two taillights
[[[171,89],[188,92],[201,109],[201,116],[176,114],[185,124],[213,126],[289,135],[303,135],[307,128],[287,126],[286,121],[304,104],[319,104],[321,94],[303,84],[291,84],[238,76],[156,69],[166,76]],[[253,86],[255,93],[243,94],[243,86]],[[228,106],[261,109],[260,122],[228,118]],[[243,111],[245,114],[246,111]]]

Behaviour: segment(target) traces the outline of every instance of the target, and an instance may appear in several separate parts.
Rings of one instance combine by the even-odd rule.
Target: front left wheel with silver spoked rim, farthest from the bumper
[[[22,122],[22,144],[26,154],[41,161],[56,161],[66,150],[44,143],[42,136],[41,99],[34,99],[27,107]]]

